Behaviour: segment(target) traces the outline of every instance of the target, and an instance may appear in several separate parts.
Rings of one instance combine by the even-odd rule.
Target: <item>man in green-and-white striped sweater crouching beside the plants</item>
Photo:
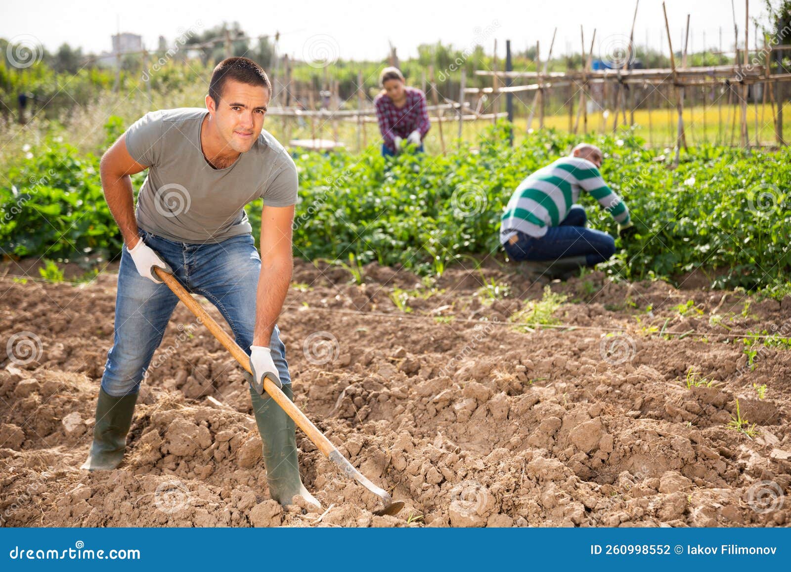
[[[619,236],[634,232],[626,203],[601,178],[601,150],[589,143],[569,157],[532,173],[513,191],[500,223],[500,242],[510,259],[528,261],[528,270],[551,278],[570,278],[615,254],[615,241],[585,228],[585,209],[577,204],[588,191],[618,224]]]

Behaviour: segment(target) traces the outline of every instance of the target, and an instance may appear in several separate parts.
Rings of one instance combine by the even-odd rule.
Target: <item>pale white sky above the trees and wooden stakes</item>
[[[745,0],[734,0],[736,20],[744,42]],[[554,28],[557,38],[553,55],[580,51],[580,25],[590,42],[596,28],[594,55],[607,55],[628,45],[635,0],[454,0],[453,2],[255,2],[234,0],[168,0],[167,2],[115,2],[114,0],[0,0],[0,37],[38,41],[49,51],[66,42],[82,47],[83,53],[111,48],[110,36],[117,30],[143,36],[146,47],[157,47],[165,36],[173,45],[184,31],[211,28],[222,21],[239,21],[249,36],[280,32],[278,51],[297,59],[383,59],[388,41],[399,58],[417,54],[419,44],[453,44],[464,49],[482,44],[487,52],[498,40],[498,55],[505,55],[505,40],[514,50],[540,42],[547,54]],[[733,44],[731,0],[667,0],[668,21],[674,50],[678,49],[691,15],[691,51],[700,51],[704,37],[708,47]],[[420,10],[415,9],[419,6]],[[764,1],[750,2],[751,18],[761,17]],[[750,44],[753,46],[750,27]],[[646,42],[667,51],[664,16],[660,0],[641,0],[634,42]]]

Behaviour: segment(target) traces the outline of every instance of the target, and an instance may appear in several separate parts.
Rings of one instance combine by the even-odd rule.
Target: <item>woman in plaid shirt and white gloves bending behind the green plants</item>
[[[403,74],[396,67],[386,67],[379,76],[382,91],[373,100],[377,108],[379,131],[384,138],[382,155],[395,155],[404,142],[423,150],[423,138],[431,127],[426,110],[426,94],[405,85]]]

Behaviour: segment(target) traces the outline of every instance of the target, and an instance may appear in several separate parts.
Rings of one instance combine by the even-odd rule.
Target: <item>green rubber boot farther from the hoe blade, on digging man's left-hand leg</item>
[[[127,448],[127,433],[132,424],[134,403],[138,394],[113,397],[99,389],[97,421],[93,426],[93,444],[88,460],[81,468],[89,471],[109,471],[121,464],[123,451]]]

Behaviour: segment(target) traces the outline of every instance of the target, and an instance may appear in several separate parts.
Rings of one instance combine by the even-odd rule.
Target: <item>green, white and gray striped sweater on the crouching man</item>
[[[629,224],[629,210],[591,161],[561,157],[524,179],[513,191],[500,221],[500,242],[505,244],[517,230],[543,237],[547,227],[557,226],[577,199],[588,191],[621,225]]]

